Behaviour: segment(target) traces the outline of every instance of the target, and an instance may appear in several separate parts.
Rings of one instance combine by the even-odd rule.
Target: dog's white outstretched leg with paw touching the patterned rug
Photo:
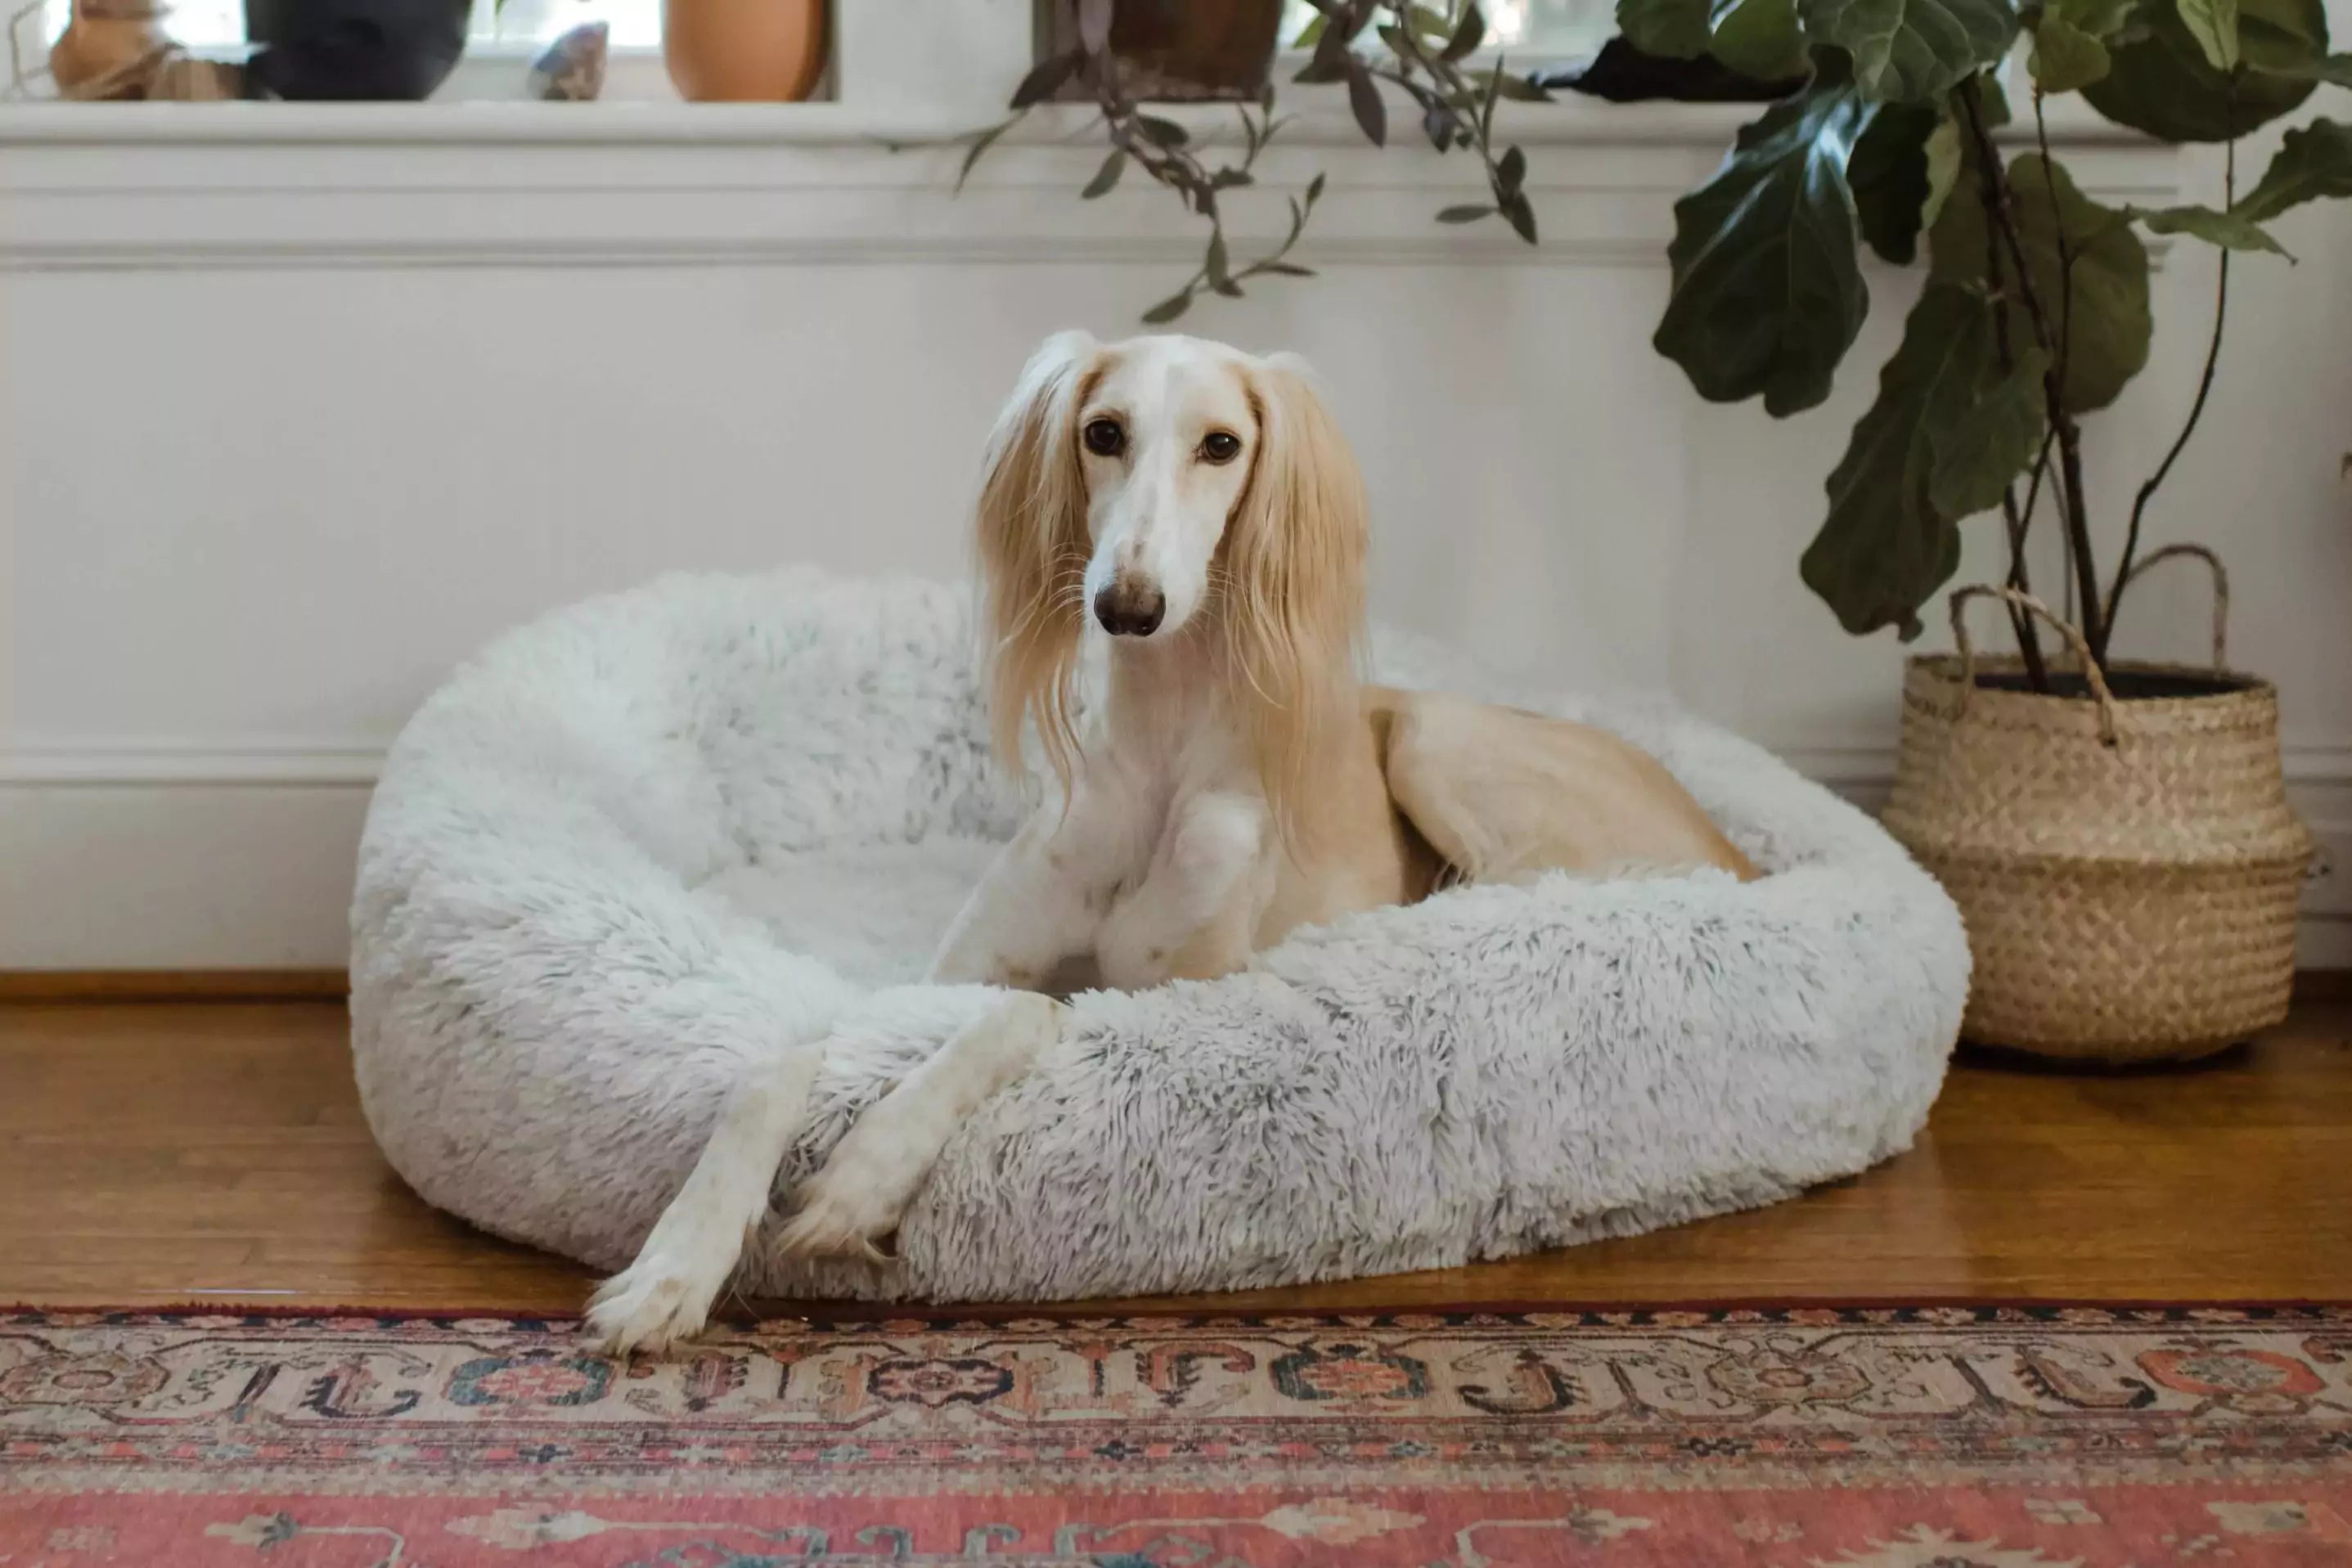
[[[736,1258],[767,1218],[776,1166],[807,1126],[821,1060],[818,1044],[793,1046],[753,1067],[727,1095],[703,1157],[661,1211],[637,1260],[588,1302],[588,1333],[602,1349],[668,1349],[710,1319]]]

